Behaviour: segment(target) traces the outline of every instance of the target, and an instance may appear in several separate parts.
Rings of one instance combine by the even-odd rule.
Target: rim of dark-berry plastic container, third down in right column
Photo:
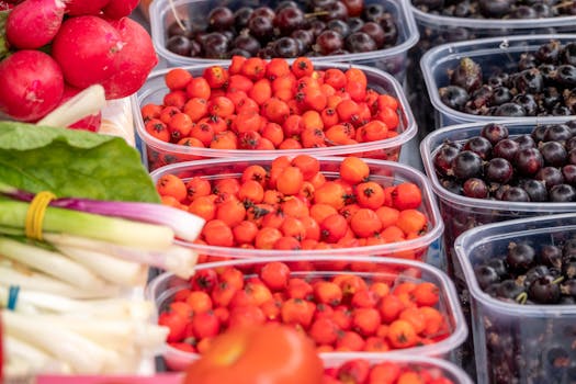
[[[554,116],[550,120],[542,121],[542,118],[534,117],[524,117],[524,118],[515,118],[515,120],[492,120],[490,123],[504,124],[508,128],[516,125],[530,125],[534,126],[538,124],[558,124],[565,123],[572,120],[576,120],[576,116]],[[576,202],[573,203],[551,203],[551,202],[509,202],[509,201],[498,201],[498,200],[483,200],[466,197],[463,195],[455,194],[450,192],[445,188],[440,185],[440,180],[434,170],[434,165],[432,163],[433,158],[432,154],[439,148],[431,148],[432,142],[436,142],[438,136],[442,136],[448,132],[455,132],[462,128],[477,127],[478,135],[479,129],[485,125],[484,122],[476,123],[463,123],[458,125],[449,125],[439,129],[436,129],[428,134],[420,142],[420,154],[422,158],[422,165],[426,170],[426,174],[430,180],[432,190],[436,195],[444,201],[455,202],[463,206],[468,207],[482,207],[485,210],[499,210],[499,211],[518,211],[518,212],[550,212],[551,210],[573,210],[576,212]]]

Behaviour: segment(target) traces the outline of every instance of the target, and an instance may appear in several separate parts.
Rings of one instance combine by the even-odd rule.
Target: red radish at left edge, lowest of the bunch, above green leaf
[[[58,105],[64,78],[58,64],[39,50],[22,49],[0,61],[0,112],[32,122]]]

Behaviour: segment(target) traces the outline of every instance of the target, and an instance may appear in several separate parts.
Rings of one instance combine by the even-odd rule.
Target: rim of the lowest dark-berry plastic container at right
[[[546,221],[558,221],[563,218],[573,218],[576,222],[576,213],[565,213],[565,214],[555,214],[555,215],[544,215],[544,216],[538,216],[538,217],[524,217],[524,218],[516,218],[511,221],[505,221],[505,222],[498,222],[498,223],[490,223],[485,224],[472,229],[468,229],[464,233],[462,233],[459,237],[456,237],[454,241],[454,249],[458,255],[458,259],[460,261],[460,264],[462,266],[462,270],[464,272],[464,276],[466,279],[466,284],[470,289],[470,293],[472,296],[477,300],[483,305],[489,305],[493,310],[494,308],[500,313],[506,313],[508,315],[518,316],[521,314],[522,316],[532,316],[538,317],[542,315],[576,315],[576,305],[561,305],[561,304],[545,304],[545,305],[522,305],[522,304],[512,304],[512,303],[506,303],[504,301],[497,300],[495,297],[492,297],[489,294],[485,293],[481,286],[478,285],[478,282],[476,280],[476,276],[474,274],[474,268],[472,267],[472,263],[470,261],[468,256],[465,253],[465,250],[476,248],[481,245],[487,244],[490,241],[490,239],[505,239],[505,238],[513,238],[513,236],[518,233],[522,233],[522,229],[515,229],[521,226],[527,226],[529,224],[534,223],[542,223]],[[550,227],[549,227],[550,228]],[[558,228],[551,227],[551,229]],[[482,239],[473,241],[471,237],[477,236],[478,233],[486,233],[494,229],[499,229],[500,235],[492,235],[487,237],[482,237]],[[513,231],[512,231],[513,229]],[[542,229],[542,228],[541,228]]]

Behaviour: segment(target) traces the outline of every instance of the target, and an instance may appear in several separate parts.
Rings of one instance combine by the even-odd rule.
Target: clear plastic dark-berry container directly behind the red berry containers
[[[150,30],[154,46],[158,54],[168,61],[169,66],[190,66],[206,65],[207,63],[226,64],[226,60],[204,59],[199,57],[185,57],[176,55],[166,48],[168,38],[168,26],[174,22],[174,13],[170,7],[169,0],[156,0],[150,5]],[[240,7],[261,7],[274,5],[279,1],[245,1],[245,0],[174,0],[176,13],[180,19],[197,20],[206,18],[208,12],[218,5],[227,5],[231,10]],[[406,75],[408,49],[418,42],[418,29],[411,12],[408,9],[407,0],[366,0],[365,4],[377,3],[384,5],[385,10],[392,13],[396,21],[398,38],[396,46],[386,49],[379,49],[368,53],[331,55],[315,57],[317,61],[336,61],[354,65],[366,65],[383,69],[393,74],[399,81],[403,81]]]

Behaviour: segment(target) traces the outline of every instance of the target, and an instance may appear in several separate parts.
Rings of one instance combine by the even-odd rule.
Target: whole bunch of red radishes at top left
[[[127,18],[138,0],[9,2],[0,114],[13,120],[36,122],[92,84],[108,100],[127,97],[158,63],[149,34]]]

